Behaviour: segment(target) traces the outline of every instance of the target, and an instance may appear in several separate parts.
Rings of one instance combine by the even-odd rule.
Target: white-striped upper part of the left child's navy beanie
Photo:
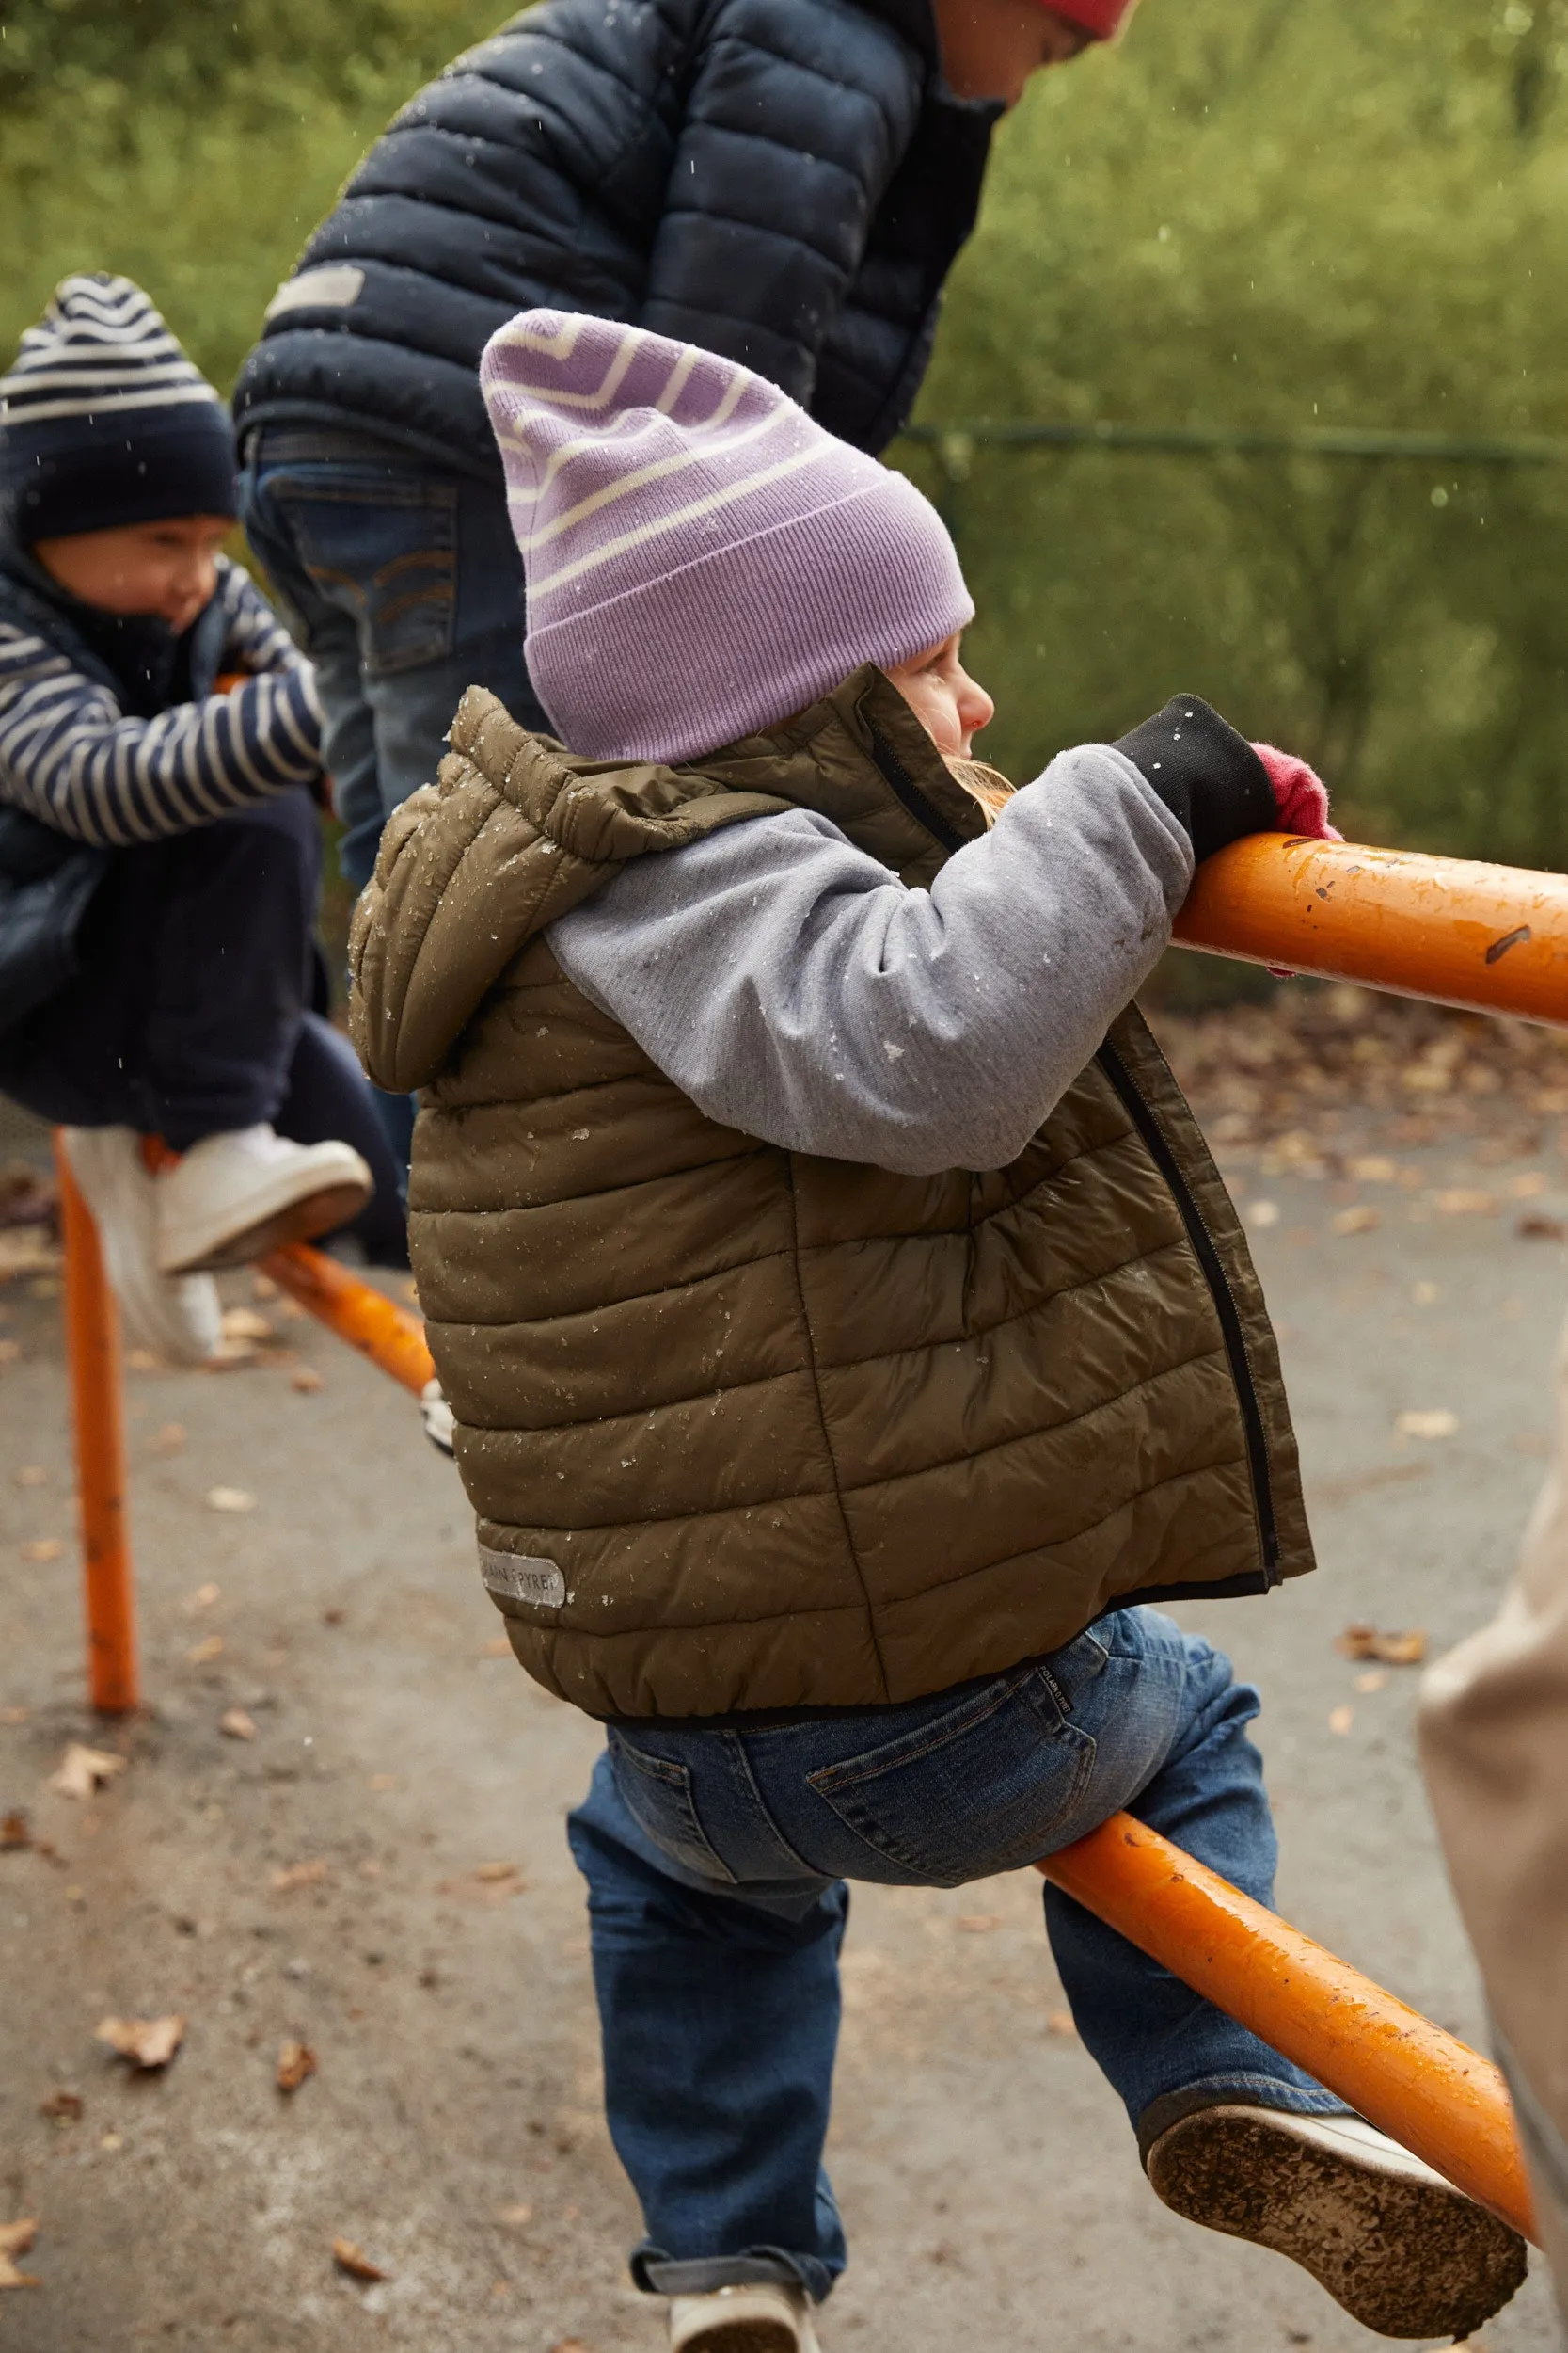
[[[63,278],[0,376],[0,424],[110,419],[118,409],[221,400],[129,278]]]

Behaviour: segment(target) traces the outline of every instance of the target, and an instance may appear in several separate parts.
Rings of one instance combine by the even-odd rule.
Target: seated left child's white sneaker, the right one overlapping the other
[[[165,1275],[247,1266],[280,1242],[348,1224],[376,1191],[348,1144],[289,1144],[270,1127],[202,1136],[155,1179]]]

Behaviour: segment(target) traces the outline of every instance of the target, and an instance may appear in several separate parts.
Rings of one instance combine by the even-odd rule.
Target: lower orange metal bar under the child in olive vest
[[[1497,2068],[1131,1814],[1037,1866],[1401,2148],[1537,2238]]]

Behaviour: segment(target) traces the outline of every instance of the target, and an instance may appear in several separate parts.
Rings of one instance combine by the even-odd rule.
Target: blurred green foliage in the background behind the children
[[[494,0],[0,0],[0,346],[122,268],[219,381]],[[1568,0],[1145,0],[1004,125],[922,419],[1568,442]],[[1568,466],[1016,452],[940,494],[1027,772],[1194,687],[1352,833],[1568,864]]]

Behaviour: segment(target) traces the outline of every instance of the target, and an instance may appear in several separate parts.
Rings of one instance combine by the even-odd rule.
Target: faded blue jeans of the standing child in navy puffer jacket
[[[381,826],[435,779],[465,687],[489,687],[524,727],[550,725],[522,659],[505,494],[369,435],[268,426],[240,499],[315,661],[343,873],[364,889]]]

